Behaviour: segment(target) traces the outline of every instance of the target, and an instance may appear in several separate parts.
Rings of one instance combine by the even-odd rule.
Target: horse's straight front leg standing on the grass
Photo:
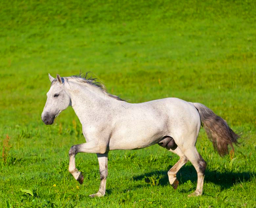
[[[100,166],[100,189],[96,194],[91,194],[90,197],[101,197],[106,192],[106,181],[108,177],[108,153],[97,154]]]

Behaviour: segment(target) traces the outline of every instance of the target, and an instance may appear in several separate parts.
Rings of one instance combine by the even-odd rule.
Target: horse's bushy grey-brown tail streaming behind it
[[[213,147],[220,156],[228,154],[228,145],[234,150],[233,144],[238,145],[237,139],[239,135],[236,134],[220,116],[213,113],[212,110],[207,108],[201,103],[193,103],[198,110],[203,127],[212,141]]]

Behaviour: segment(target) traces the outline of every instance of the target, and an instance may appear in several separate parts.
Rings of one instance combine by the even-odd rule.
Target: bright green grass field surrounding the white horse
[[[0,207],[256,207],[255,23],[254,0],[0,1]],[[207,170],[196,198],[191,163],[169,185],[178,156],[166,149],[112,151],[106,196],[91,199],[96,155],[76,156],[83,185],[68,172],[69,148],[85,141],[72,108],[51,126],[40,117],[48,73],[80,70],[128,102],[203,103],[241,145],[221,158],[200,130]]]

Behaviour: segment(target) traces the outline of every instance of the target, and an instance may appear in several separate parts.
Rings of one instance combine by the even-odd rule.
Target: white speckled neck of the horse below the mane
[[[82,125],[92,125],[102,114],[110,112],[115,105],[115,99],[105,95],[93,86],[71,84],[67,89],[71,98],[72,108]]]

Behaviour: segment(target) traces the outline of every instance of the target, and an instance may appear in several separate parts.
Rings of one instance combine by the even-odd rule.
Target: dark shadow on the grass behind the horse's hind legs
[[[134,181],[140,181],[145,180],[145,178],[150,178],[155,175],[159,176],[159,185],[161,186],[167,186],[169,185],[168,175],[167,171],[171,168],[167,168],[167,170],[155,170],[148,172],[146,174],[141,174],[133,177]],[[212,182],[214,184],[217,184],[221,187],[221,189],[228,189],[231,186],[233,186],[236,183],[241,182],[247,182],[250,181],[251,178],[253,178],[255,173],[251,172],[242,172],[242,173],[236,173],[236,172],[225,172],[221,173],[218,171],[211,171],[206,170],[205,171],[205,182]],[[185,167],[181,168],[181,170],[177,173],[177,179],[179,182],[186,183],[187,181],[196,182],[197,181],[197,174],[192,165],[186,165]]]

